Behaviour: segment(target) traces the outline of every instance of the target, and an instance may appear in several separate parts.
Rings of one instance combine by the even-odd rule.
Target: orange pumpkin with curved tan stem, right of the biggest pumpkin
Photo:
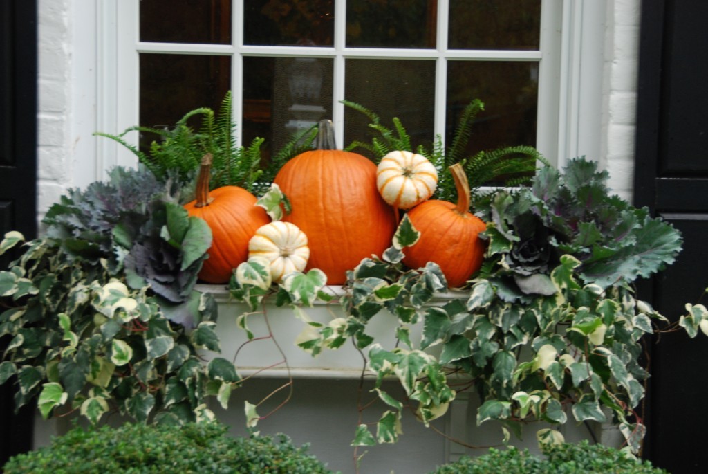
[[[481,267],[485,244],[479,239],[479,232],[486,225],[469,212],[469,183],[464,170],[454,164],[450,171],[457,188],[457,205],[433,200],[409,211],[409,219],[421,232],[421,238],[404,249],[404,264],[417,269],[434,261],[445,274],[447,286],[457,288]]]

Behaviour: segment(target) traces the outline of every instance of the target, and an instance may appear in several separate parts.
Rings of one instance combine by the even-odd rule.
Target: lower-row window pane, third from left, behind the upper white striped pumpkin
[[[411,135],[413,147],[433,142],[434,61],[347,60],[345,69],[348,101],[379,115],[388,128],[394,128],[391,120],[398,117]],[[338,145],[370,140],[369,119],[351,108],[345,110],[345,143]]]

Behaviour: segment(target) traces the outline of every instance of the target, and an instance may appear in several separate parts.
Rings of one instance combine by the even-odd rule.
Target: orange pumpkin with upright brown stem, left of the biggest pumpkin
[[[207,283],[227,283],[236,266],[249,257],[249,240],[270,218],[256,206],[256,196],[238,186],[209,192],[212,155],[206,154],[197,179],[197,198],[185,204],[189,215],[204,219],[212,230],[212,247],[199,278]]]

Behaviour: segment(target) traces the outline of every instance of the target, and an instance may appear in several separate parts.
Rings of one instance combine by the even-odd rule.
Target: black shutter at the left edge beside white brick
[[[37,232],[37,2],[0,1],[0,236]],[[6,269],[8,256],[0,257]],[[0,308],[0,312],[2,308]],[[0,338],[0,350],[7,344]],[[11,381],[0,387],[0,466],[32,448],[34,410],[13,410]]]

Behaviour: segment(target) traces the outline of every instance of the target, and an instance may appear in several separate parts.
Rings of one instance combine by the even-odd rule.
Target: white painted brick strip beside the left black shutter
[[[71,0],[39,0],[38,218],[71,183]]]

